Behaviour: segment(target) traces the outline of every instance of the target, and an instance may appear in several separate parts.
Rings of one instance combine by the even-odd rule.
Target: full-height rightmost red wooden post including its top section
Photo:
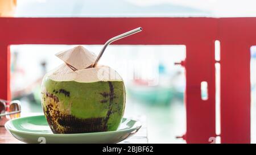
[[[222,18],[221,143],[250,143],[250,46],[256,18]]]

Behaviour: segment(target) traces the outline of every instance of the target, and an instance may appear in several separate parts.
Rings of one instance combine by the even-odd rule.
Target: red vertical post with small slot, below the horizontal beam
[[[188,143],[209,143],[215,132],[214,41],[187,44],[186,111]],[[201,82],[208,82],[208,100],[201,99]]]

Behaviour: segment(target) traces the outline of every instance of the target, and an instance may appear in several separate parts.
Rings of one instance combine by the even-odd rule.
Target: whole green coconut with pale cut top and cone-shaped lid
[[[42,107],[53,133],[115,131],[125,108],[121,76],[82,46],[56,54],[65,63],[42,82]]]

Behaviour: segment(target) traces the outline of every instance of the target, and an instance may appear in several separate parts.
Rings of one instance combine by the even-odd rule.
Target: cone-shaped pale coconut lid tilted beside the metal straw
[[[55,56],[67,63],[73,70],[88,68],[95,62],[97,57],[93,52],[88,51],[81,45],[67,51],[61,51]]]

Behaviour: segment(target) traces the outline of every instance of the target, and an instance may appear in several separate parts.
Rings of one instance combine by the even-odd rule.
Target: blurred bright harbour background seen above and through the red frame
[[[1,2],[1,1],[0,1]],[[256,16],[256,1],[218,0],[17,0],[6,5],[15,17],[130,17],[130,16]],[[2,4],[3,8],[4,4]],[[5,7],[7,8],[7,7]],[[14,9],[15,8],[15,12]],[[1,11],[1,3],[0,3]],[[220,44],[216,42],[216,50]],[[42,112],[40,85],[45,73],[62,63],[55,53],[75,45],[12,45],[11,91],[22,101],[23,112]],[[99,53],[102,45],[84,45]],[[220,57],[220,51],[216,57]],[[256,47],[251,47],[251,142],[256,143]],[[185,143],[185,74],[180,65],[185,45],[110,45],[101,59],[125,80],[125,116],[146,120],[149,143]],[[219,72],[216,66],[216,107],[219,106]],[[155,74],[156,73],[156,74]],[[134,76],[136,75],[136,76]],[[152,76],[153,75],[153,76]],[[155,76],[157,75],[157,76]],[[148,83],[151,83],[150,85]],[[217,108],[216,108],[217,109]],[[216,118],[219,118],[217,110]],[[220,122],[216,129],[220,131]],[[218,140],[217,140],[218,142]]]

